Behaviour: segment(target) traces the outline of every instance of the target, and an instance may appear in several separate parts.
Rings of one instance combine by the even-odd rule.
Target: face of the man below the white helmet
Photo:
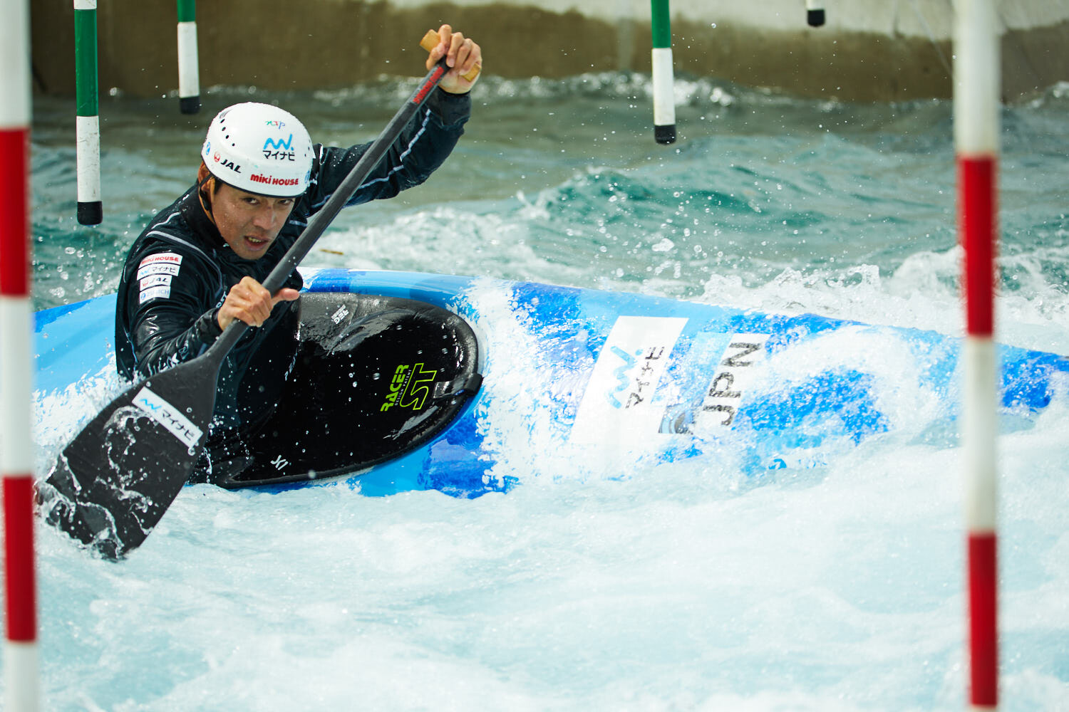
[[[260,259],[278,237],[295,200],[247,193],[223,184],[212,195],[212,217],[234,254]]]

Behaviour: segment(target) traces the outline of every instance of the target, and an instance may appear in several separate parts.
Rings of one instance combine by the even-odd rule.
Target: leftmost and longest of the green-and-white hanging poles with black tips
[[[74,0],[75,95],[77,118],[75,143],[78,161],[78,222],[99,225],[100,117],[96,80],[96,0]]]

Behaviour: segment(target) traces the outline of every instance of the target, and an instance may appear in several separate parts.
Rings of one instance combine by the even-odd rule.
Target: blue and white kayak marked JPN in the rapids
[[[309,417],[324,413],[307,428],[319,437],[309,449],[339,459],[308,471],[265,463],[224,486],[470,497],[508,490],[546,458],[609,475],[728,458],[760,477],[878,438],[954,442],[960,338],[489,278],[301,271],[303,338],[322,353],[351,349],[307,384]],[[391,338],[390,319],[414,308],[444,331]],[[114,295],[37,313],[38,397],[113,370],[113,319]],[[439,351],[460,370],[437,365]],[[1065,357],[1010,346],[998,357],[1007,427],[1066,398]],[[331,438],[345,440],[325,446]]]

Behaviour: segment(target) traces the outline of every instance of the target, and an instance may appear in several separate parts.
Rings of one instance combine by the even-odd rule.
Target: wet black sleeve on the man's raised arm
[[[470,114],[469,95],[436,89],[346,205],[393,197],[427,180],[452,153]],[[312,212],[323,207],[370,145],[316,146],[316,178],[308,196]]]

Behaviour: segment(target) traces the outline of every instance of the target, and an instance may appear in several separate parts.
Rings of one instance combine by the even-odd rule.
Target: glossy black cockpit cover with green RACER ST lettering
[[[441,432],[482,382],[461,317],[396,297],[306,292],[282,401],[249,441],[228,489],[336,477],[412,452]]]

